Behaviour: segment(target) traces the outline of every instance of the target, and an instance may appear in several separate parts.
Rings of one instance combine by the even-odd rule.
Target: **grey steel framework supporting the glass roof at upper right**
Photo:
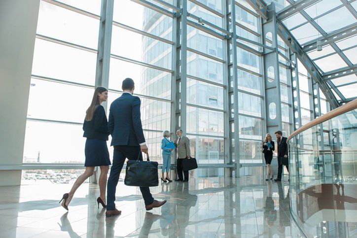
[[[336,45],[336,41],[345,39],[347,37],[353,36],[357,33],[357,24],[353,24],[350,26],[347,26],[343,29],[340,29],[336,32],[327,34],[322,30],[322,28],[312,19],[303,9],[306,7],[315,4],[319,0],[298,0],[298,1],[292,1],[292,0],[287,0],[291,5],[283,9],[277,14],[277,22],[278,22],[278,34],[282,37],[282,39],[285,41],[285,43],[289,46],[289,48],[292,50],[292,52],[297,53],[297,58],[301,61],[301,63],[304,65],[304,67],[309,71],[310,75],[313,77],[313,79],[318,83],[319,87],[321,88],[322,92],[325,94],[327,101],[330,103],[332,108],[338,107],[341,103],[345,102],[345,98],[342,96],[341,99],[342,101],[339,102],[336,97],[333,95],[331,88],[329,84],[324,82],[325,80],[328,79],[333,79],[337,78],[343,75],[349,75],[356,73],[356,67],[353,65],[350,60],[345,56],[345,54],[338,48]],[[248,0],[248,2],[251,4],[251,6],[257,10],[259,15],[262,15],[263,12],[265,12],[265,16],[262,16],[264,19],[267,19],[267,11],[266,7],[265,10],[262,10],[264,8],[264,4],[257,3],[255,0]],[[347,0],[341,0],[343,3],[342,5],[331,9],[330,11],[334,11],[337,8],[341,6],[346,6],[347,9],[357,18],[356,10],[351,6],[350,2]],[[258,11],[259,10],[259,11]],[[329,11],[329,12],[330,12]],[[282,23],[282,20],[292,16],[293,14],[299,12],[302,16],[304,16],[307,21],[312,24],[313,27],[317,29],[317,31],[320,32],[322,35],[320,38],[316,40],[312,40],[310,42],[307,42],[304,44],[302,47],[297,40],[292,36],[292,34],[286,29],[284,24]],[[320,17],[320,16],[319,16]],[[349,66],[348,68],[341,68],[335,70],[336,72],[327,72],[326,74],[322,74],[320,71],[321,69],[318,68],[315,63],[310,59],[310,57],[306,54],[307,52],[310,52],[312,50],[315,50],[317,47],[317,40],[321,40],[322,45],[327,45],[330,44],[331,47],[337,52],[337,54],[344,60],[344,62]],[[340,93],[336,89],[336,93],[339,95]],[[340,95],[339,95],[340,96]]]

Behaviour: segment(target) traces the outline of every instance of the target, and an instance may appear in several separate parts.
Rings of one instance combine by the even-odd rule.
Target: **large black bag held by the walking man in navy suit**
[[[137,160],[126,162],[125,185],[135,187],[156,187],[159,185],[158,163],[150,161],[149,154],[146,155],[146,161],[140,160],[139,154]]]

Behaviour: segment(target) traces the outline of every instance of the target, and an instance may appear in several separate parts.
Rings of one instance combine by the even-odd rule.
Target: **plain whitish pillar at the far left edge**
[[[22,165],[39,0],[0,1],[0,164]],[[21,170],[0,171],[0,186]]]

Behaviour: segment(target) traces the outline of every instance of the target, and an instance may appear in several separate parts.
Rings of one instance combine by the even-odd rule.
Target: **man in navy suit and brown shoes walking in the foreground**
[[[119,215],[121,211],[115,208],[115,190],[118,184],[120,171],[124,161],[143,160],[141,152],[147,153],[147,146],[143,134],[140,118],[140,99],[133,96],[134,80],[126,78],[122,84],[123,94],[110,105],[108,129],[112,137],[111,146],[114,146],[113,165],[110,170],[107,185],[107,212],[106,216]],[[149,187],[140,187],[146,210],[159,207],[166,200],[159,202],[153,199]]]

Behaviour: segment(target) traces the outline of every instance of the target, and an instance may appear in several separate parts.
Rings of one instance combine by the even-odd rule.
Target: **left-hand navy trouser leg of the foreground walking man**
[[[107,184],[107,210],[114,210],[115,209],[115,191],[116,185],[118,184],[119,175],[121,169],[123,169],[125,161],[125,155],[123,152],[118,148],[114,147],[114,155],[113,155],[113,165],[110,169],[110,174],[108,178]]]

